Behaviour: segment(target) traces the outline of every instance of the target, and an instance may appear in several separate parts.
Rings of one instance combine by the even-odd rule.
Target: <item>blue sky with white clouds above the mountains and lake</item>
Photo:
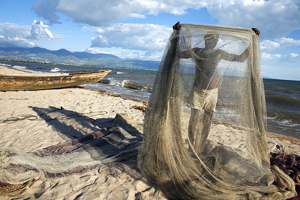
[[[172,26],[261,31],[263,76],[300,81],[299,0],[0,0],[0,42],[161,60]]]

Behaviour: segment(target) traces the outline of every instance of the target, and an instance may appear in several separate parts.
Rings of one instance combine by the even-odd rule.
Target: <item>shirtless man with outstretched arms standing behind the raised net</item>
[[[252,30],[259,37],[260,31],[257,28],[252,28]],[[182,51],[179,54],[179,58],[193,58],[195,60],[195,81],[188,101],[188,107],[191,108],[188,137],[191,144],[193,144],[195,128],[199,121],[199,110],[204,110],[202,118],[203,129],[200,141],[200,144],[202,145],[200,147],[201,151],[203,144],[208,137],[212,115],[216,110],[218,97],[217,68],[220,60],[244,62],[249,56],[248,48],[240,55],[228,53],[221,49],[215,49],[219,41],[219,35],[216,33],[206,34],[203,40],[205,40],[204,48],[195,47],[190,51]]]

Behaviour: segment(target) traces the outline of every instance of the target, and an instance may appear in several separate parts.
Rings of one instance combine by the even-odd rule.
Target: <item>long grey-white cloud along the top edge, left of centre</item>
[[[145,18],[145,15],[172,13],[182,15],[189,7],[199,8],[204,1],[179,0],[39,0],[32,10],[49,23],[58,23],[57,13],[69,16],[74,22],[90,26],[107,26],[121,19]]]

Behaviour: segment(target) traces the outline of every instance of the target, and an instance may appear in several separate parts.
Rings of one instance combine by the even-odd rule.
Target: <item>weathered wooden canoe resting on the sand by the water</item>
[[[40,90],[94,83],[111,70],[71,73],[0,73],[0,90]]]

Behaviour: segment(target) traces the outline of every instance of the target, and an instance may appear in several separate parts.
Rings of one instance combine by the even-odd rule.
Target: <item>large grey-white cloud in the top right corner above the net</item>
[[[213,0],[207,10],[218,24],[258,28],[261,39],[278,38],[300,28],[298,0]]]

